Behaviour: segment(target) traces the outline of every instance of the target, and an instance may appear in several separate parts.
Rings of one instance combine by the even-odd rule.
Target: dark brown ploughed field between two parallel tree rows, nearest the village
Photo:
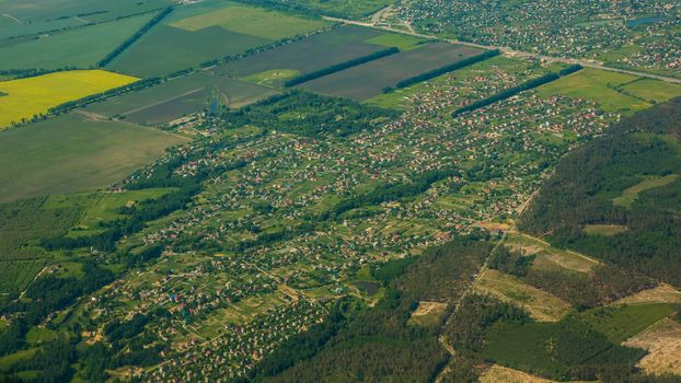
[[[300,88],[363,101],[381,94],[383,89],[393,86],[401,80],[480,53],[478,49],[434,43],[305,82]]]

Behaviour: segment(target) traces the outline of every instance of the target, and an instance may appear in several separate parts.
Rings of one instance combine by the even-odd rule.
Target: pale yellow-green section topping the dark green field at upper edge
[[[220,10],[173,22],[171,26],[197,32],[210,26],[272,40],[319,30],[327,22],[290,16],[262,8],[230,4]]]

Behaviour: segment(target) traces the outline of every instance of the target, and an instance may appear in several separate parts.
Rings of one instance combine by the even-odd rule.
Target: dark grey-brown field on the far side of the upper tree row
[[[366,56],[383,49],[368,40],[383,33],[372,28],[344,25],[331,31],[227,62],[216,68],[220,74],[249,77],[272,70],[295,70],[300,74]]]

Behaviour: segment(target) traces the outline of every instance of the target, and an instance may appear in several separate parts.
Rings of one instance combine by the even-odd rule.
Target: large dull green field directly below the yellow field
[[[0,134],[0,201],[90,190],[120,181],[186,139],[68,114]]]

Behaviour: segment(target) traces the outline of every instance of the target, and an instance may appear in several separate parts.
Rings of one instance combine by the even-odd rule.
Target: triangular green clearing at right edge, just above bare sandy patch
[[[597,307],[579,316],[619,345],[677,310],[679,305],[668,303],[633,304]]]

